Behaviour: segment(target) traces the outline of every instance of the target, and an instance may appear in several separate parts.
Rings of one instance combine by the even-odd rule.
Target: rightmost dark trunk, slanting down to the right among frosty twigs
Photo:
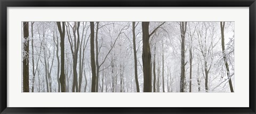
[[[229,88],[231,92],[234,92],[233,90],[233,85],[232,85],[232,81],[231,81],[231,77],[230,77],[230,72],[229,72],[229,66],[228,66],[228,62],[227,62],[227,57],[226,57],[226,50],[225,50],[225,38],[224,38],[224,27],[225,27],[225,22],[220,22],[220,28],[221,28],[221,46],[222,46],[222,54],[223,54],[223,60],[226,66],[226,70],[227,70],[227,76],[229,78]]]

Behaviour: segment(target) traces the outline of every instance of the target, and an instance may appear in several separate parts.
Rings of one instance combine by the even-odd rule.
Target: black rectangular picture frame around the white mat
[[[256,113],[255,0],[0,0],[1,113]],[[7,106],[7,7],[250,7],[250,104],[248,108],[13,108]],[[239,99],[239,98],[237,98]]]

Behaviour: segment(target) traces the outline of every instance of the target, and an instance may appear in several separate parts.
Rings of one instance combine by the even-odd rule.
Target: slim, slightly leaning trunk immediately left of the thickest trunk
[[[137,92],[140,92],[140,86],[138,81],[138,69],[137,69],[137,51],[136,51],[136,42],[135,42],[135,22],[132,22],[132,40],[133,40],[133,55],[134,55],[134,73],[135,73],[135,83]]]

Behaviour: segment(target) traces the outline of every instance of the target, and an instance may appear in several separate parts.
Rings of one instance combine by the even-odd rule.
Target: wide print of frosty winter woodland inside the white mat
[[[21,92],[235,92],[235,22],[21,22]]]

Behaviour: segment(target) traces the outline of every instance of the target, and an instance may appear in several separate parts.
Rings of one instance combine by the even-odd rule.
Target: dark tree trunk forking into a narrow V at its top
[[[58,30],[60,32],[60,84],[61,84],[61,92],[66,92],[66,82],[65,82],[65,22],[62,22],[62,30],[60,22],[57,22]]]

